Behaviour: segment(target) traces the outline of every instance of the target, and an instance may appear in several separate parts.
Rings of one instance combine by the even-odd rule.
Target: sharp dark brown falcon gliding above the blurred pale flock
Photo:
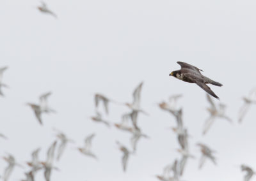
[[[218,98],[214,92],[208,87],[205,83],[211,83],[212,85],[222,86],[221,83],[215,82],[214,80],[211,80],[210,78],[202,75],[200,71],[202,69],[198,69],[195,66],[192,66],[191,64],[187,64],[185,62],[177,62],[181,69],[177,71],[173,71],[170,73],[170,76],[175,76],[176,78],[179,78],[180,80],[183,80],[184,82],[189,83],[196,83],[199,87],[204,89],[205,92],[209,93],[214,98]]]

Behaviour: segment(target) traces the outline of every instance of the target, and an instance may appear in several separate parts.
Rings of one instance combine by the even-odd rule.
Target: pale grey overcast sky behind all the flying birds
[[[56,138],[52,127],[76,140],[65,150],[52,171],[51,180],[157,180],[166,164],[180,155],[172,115],[156,103],[172,94],[179,101],[188,127],[189,145],[196,159],[189,159],[184,177],[188,181],[243,180],[239,164],[256,170],[255,106],[242,124],[237,114],[255,85],[255,1],[236,0],[52,0],[45,1],[58,19],[36,10],[40,1],[0,2],[0,66],[8,66],[3,82],[10,86],[0,98],[0,155],[10,152],[17,162],[31,159],[41,147],[40,159]],[[227,105],[234,124],[218,119],[205,136],[202,127],[208,114],[205,92],[197,85],[168,76],[180,68],[177,61],[203,69],[203,74],[223,83],[210,85]],[[138,143],[138,151],[121,167],[122,153],[115,141],[130,147],[129,133],[92,122],[93,94],[100,92],[119,102],[132,101],[141,82],[141,107],[150,116],[139,115],[138,124],[150,139]],[[43,115],[40,126],[25,103],[38,103],[40,94],[52,91],[49,104],[57,113]],[[217,99],[214,99],[219,103]],[[129,112],[124,106],[109,105],[111,122],[120,122]],[[80,154],[84,137],[95,133],[93,151],[99,157]],[[207,161],[198,170],[200,150],[196,143],[216,150],[218,165]],[[0,161],[0,175],[7,164]],[[10,180],[24,178],[28,169],[15,168]],[[36,181],[44,180],[42,171]],[[254,177],[252,180],[256,180]]]

